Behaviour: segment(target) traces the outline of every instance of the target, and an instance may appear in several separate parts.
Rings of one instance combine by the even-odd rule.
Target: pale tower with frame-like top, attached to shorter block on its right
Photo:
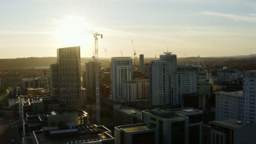
[[[131,57],[113,57],[111,65],[112,100],[126,101],[123,97],[123,82],[132,80]]]

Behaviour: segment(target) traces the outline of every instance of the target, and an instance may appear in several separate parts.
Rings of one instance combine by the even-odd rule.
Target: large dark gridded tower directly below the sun
[[[57,49],[57,63],[50,65],[51,94],[70,109],[82,109],[80,46]]]

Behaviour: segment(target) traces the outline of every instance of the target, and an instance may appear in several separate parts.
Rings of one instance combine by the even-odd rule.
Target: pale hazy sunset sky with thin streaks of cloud
[[[1,0],[0,58],[234,56],[256,53],[256,0]],[[106,51],[107,53],[106,53]]]

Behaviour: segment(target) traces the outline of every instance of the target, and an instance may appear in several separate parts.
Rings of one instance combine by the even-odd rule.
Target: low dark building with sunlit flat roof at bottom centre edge
[[[115,144],[155,144],[155,130],[143,123],[115,127]]]

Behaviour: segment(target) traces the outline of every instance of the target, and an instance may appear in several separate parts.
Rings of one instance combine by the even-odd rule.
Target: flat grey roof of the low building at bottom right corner
[[[242,127],[248,127],[248,126],[252,126],[254,125],[253,123],[249,123],[249,122],[243,122],[241,120],[235,119],[235,118],[231,118],[231,119],[226,119],[223,121],[211,121],[211,124],[216,124],[222,127],[226,127],[229,129],[237,129],[237,128],[242,128]],[[248,123],[248,124],[247,124]]]

